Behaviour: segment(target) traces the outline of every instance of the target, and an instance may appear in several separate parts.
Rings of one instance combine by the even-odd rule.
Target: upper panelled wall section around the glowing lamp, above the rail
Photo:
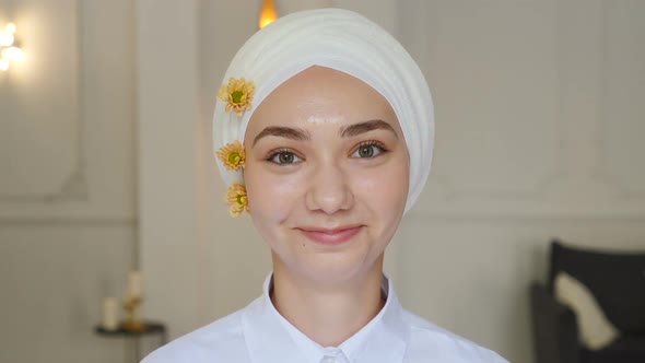
[[[128,7],[134,5],[24,0],[0,14],[0,23],[16,23],[26,54],[0,72],[0,220],[134,218]],[[97,20],[99,13],[106,17]]]

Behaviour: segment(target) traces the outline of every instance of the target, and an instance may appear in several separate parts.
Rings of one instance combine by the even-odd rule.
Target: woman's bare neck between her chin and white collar
[[[340,346],[367,325],[385,304],[380,294],[383,255],[365,276],[331,288],[294,278],[277,262],[273,264],[273,306],[322,347]]]

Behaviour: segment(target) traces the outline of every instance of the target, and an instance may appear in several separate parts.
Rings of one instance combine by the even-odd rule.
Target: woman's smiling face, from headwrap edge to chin
[[[380,268],[406,207],[409,162],[379,93],[312,67],[265,98],[244,143],[251,218],[275,269],[335,283]]]

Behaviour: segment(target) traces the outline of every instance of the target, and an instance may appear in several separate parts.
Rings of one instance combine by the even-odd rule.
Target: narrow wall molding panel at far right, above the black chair
[[[641,11],[635,11],[640,8]],[[642,1],[602,2],[597,164],[618,199],[645,198],[645,34]]]

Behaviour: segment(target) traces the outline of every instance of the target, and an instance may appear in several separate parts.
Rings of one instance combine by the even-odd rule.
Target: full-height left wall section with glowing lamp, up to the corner
[[[125,362],[94,335],[134,264],[134,8],[0,1],[27,59],[0,72],[0,362]]]

